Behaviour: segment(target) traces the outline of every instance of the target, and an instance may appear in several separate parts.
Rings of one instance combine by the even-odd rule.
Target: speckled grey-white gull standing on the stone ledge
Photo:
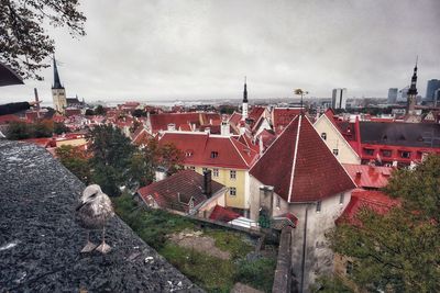
[[[81,252],[90,252],[94,249],[102,253],[109,252],[111,247],[106,244],[106,223],[114,215],[114,211],[109,196],[98,184],[88,185],[82,191],[76,214],[79,225],[87,229],[87,245]],[[98,247],[90,243],[89,235],[92,229],[102,229],[102,243]]]

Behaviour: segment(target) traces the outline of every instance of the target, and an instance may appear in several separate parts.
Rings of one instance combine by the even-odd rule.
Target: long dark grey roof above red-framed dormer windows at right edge
[[[440,124],[361,122],[363,144],[440,147]]]

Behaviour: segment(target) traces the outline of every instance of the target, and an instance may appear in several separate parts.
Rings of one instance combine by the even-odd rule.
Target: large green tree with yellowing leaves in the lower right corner
[[[359,224],[329,234],[332,249],[353,259],[351,281],[371,292],[440,291],[439,187],[440,156],[431,155],[391,178],[385,191],[402,206],[385,214],[364,207]]]

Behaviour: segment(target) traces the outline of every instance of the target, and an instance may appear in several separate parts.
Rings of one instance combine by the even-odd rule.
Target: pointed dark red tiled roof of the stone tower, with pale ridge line
[[[287,202],[310,202],[355,188],[311,123],[297,116],[251,168]]]

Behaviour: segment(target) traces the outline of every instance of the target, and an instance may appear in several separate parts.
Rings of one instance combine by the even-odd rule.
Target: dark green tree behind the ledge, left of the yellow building
[[[128,184],[134,146],[119,128],[111,125],[95,127],[89,140],[94,154],[90,160],[94,181],[109,195],[119,195],[119,187]]]

